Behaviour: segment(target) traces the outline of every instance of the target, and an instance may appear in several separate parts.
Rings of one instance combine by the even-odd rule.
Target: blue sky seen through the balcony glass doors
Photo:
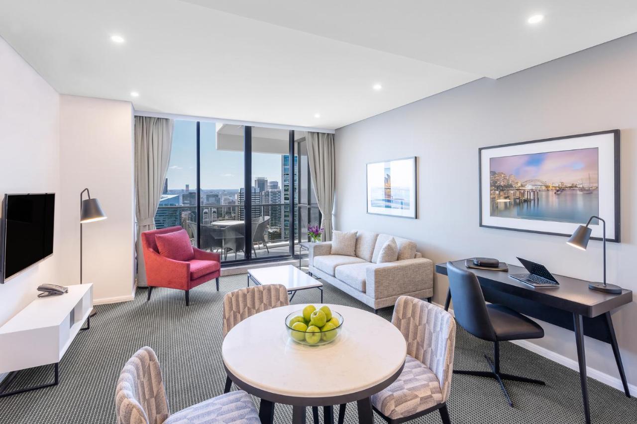
[[[175,120],[173,147],[168,164],[169,190],[197,185],[197,123]],[[214,122],[201,122],[201,188],[220,189],[243,187],[243,152],[217,151],[217,131]],[[281,155],[252,154],[252,175],[278,181],[281,186]]]

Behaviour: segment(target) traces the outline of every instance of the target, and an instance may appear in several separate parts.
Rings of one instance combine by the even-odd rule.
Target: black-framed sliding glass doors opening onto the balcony
[[[182,226],[194,246],[217,251],[222,262],[294,255],[299,166],[306,166],[295,151],[304,136],[285,129],[175,121],[155,225]]]

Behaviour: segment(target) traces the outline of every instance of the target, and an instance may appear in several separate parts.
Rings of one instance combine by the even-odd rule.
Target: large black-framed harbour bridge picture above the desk
[[[571,236],[590,216],[619,243],[619,130],[478,150],[480,227]],[[590,224],[601,240],[601,222]]]

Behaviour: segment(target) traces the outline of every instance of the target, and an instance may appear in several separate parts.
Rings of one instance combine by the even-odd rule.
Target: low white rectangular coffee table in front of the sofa
[[[320,290],[320,302],[323,303],[323,283],[293,265],[248,269],[248,287],[250,286],[250,280],[257,286],[282,284],[287,288],[287,293],[292,295],[290,300],[299,290],[318,288]]]

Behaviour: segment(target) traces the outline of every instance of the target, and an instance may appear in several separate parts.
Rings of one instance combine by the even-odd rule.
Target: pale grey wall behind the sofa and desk
[[[537,260],[557,274],[601,279],[601,243],[478,226],[478,148],[621,130],[622,243],[608,246],[608,280],[637,292],[637,34],[499,80],[482,79],[336,131],[336,229],[415,239],[434,262],[472,256]],[[386,88],[390,90],[390,87]],[[379,93],[382,95],[382,93]],[[419,219],[366,214],[365,164],[419,157]],[[434,297],[444,302],[447,279]],[[637,303],[613,313],[624,367],[637,385]],[[537,346],[576,360],[573,332],[543,324]],[[617,377],[610,345],[587,338],[587,364]]]

